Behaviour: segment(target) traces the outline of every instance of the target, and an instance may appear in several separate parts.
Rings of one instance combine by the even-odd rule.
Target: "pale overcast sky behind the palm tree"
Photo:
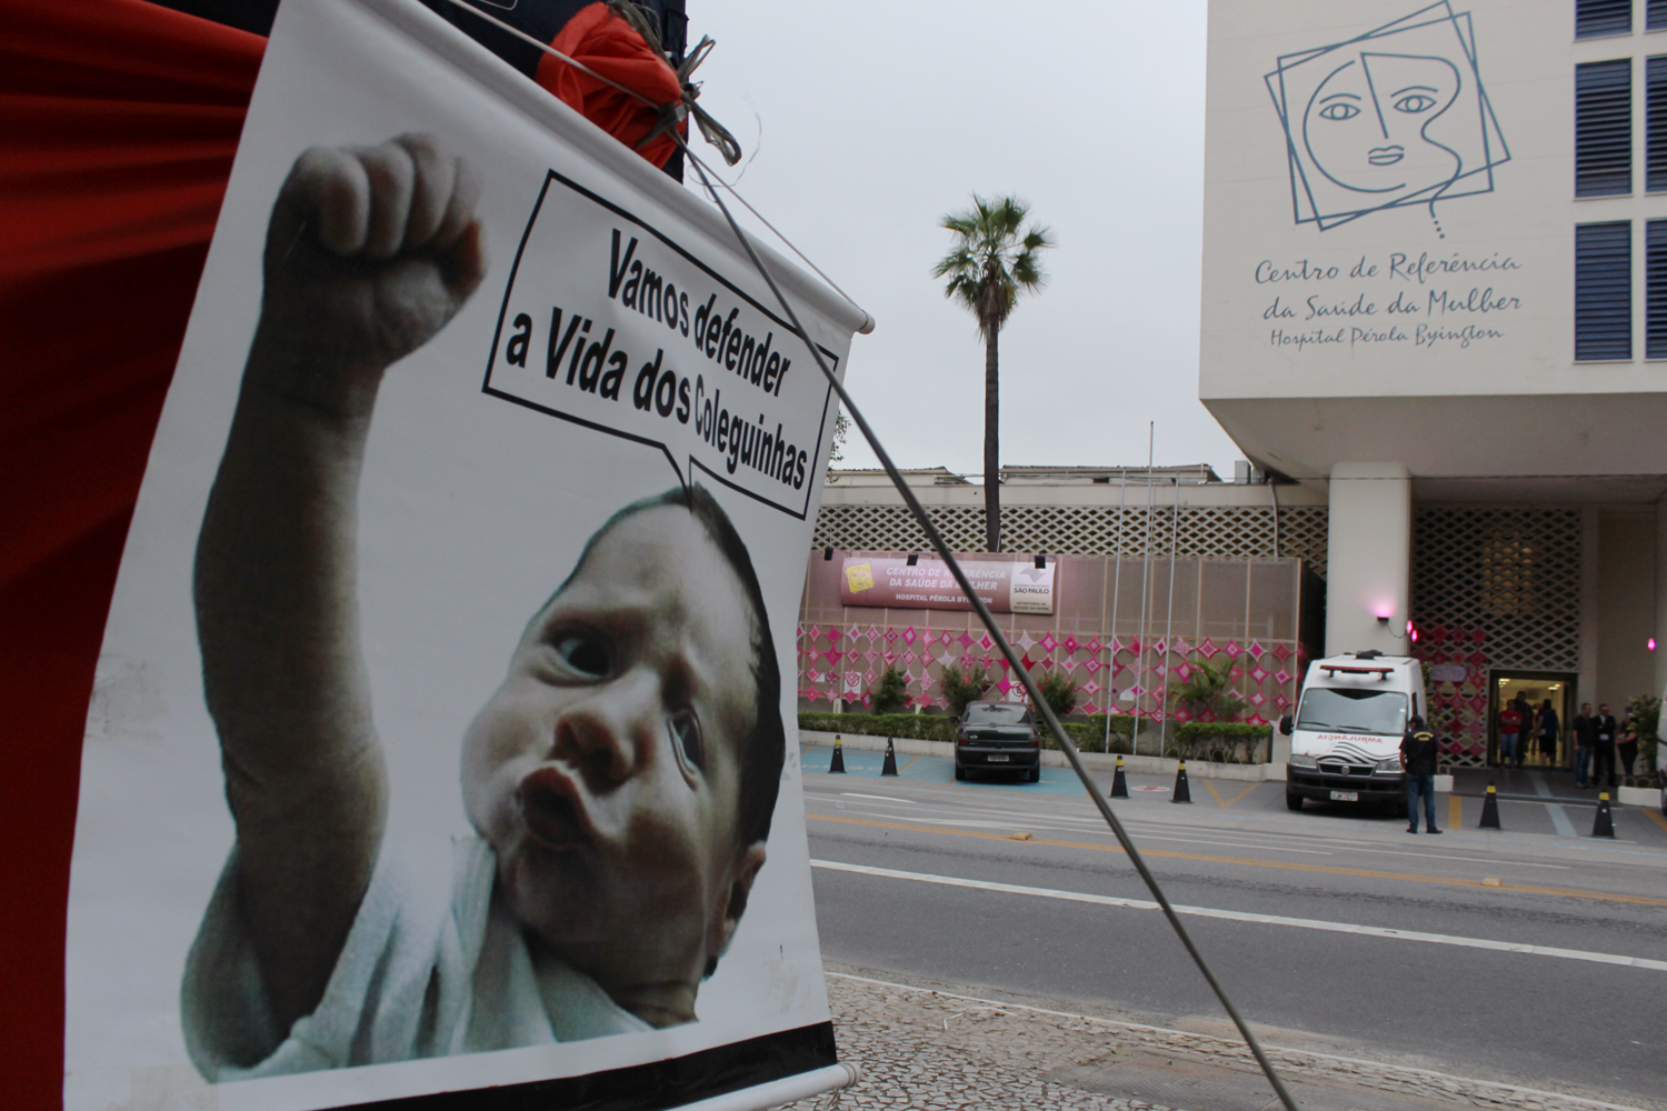
[[[932,278],[977,190],[1059,243],[1002,331],[1002,461],[1144,465],[1154,420],[1159,465],[1232,475],[1197,400],[1205,0],[688,12],[690,43],[717,40],[702,105],[750,158],[737,188],[879,325],[847,385],[899,465],[982,470],[984,346]]]

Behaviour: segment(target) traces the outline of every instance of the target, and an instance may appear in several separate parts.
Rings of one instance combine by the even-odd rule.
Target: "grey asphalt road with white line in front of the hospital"
[[[882,780],[879,755],[845,756],[850,775],[835,776],[818,771],[827,750],[803,755],[825,954],[1157,1024],[1222,1018],[1070,773],[964,785],[949,761],[905,758]],[[1279,783],[1194,780],[1190,806],[1169,801],[1167,781],[1130,783],[1119,815],[1270,1039],[1617,1103],[1667,1098],[1659,815],[1617,810],[1617,838],[1599,841],[1570,833],[1594,813],[1575,803],[1504,803],[1494,833],[1474,828],[1480,800],[1440,798],[1449,830],[1414,838],[1350,808],[1289,813]]]

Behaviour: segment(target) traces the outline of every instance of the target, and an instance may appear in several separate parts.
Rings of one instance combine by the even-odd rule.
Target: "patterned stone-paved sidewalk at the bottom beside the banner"
[[[837,1101],[832,1094],[807,1099],[790,1104],[793,1111],[1280,1106],[1244,1043],[1234,1039],[984,999],[977,989],[835,963],[828,973],[840,1059],[864,1076]],[[1302,1111],[1615,1106],[1325,1053],[1269,1051]]]

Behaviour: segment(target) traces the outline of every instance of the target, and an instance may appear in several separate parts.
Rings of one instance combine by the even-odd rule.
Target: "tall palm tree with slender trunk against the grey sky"
[[[984,530],[990,551],[1002,550],[1002,410],[995,338],[1019,295],[1042,288],[1047,277],[1037,252],[1054,247],[1047,228],[1032,223],[1020,230],[1029,215],[1030,205],[1017,197],[985,200],[974,193],[972,208],[944,217],[942,227],[955,233],[955,245],[932,268],[934,278],[949,278],[944,296],[965,305],[984,336]]]

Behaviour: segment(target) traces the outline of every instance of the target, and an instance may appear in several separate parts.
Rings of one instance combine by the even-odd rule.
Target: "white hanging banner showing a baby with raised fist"
[[[834,411],[710,205],[415,0],[285,3],[88,713],[67,1111],[828,1069],[782,676]]]

